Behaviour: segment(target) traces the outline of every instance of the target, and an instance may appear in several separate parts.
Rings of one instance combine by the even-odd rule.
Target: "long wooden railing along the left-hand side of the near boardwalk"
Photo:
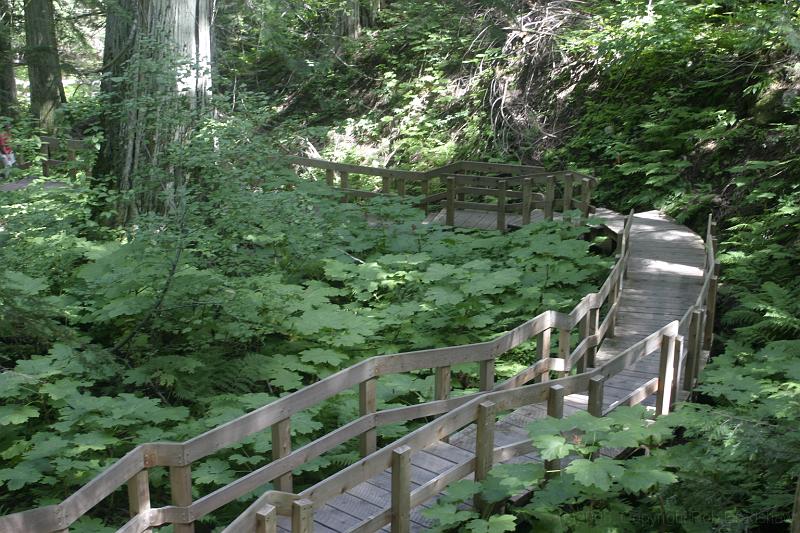
[[[627,217],[619,233],[617,260],[600,290],[586,295],[569,314],[545,311],[487,342],[371,357],[186,442],[139,445],[63,502],[0,517],[0,532],[67,531],[81,516],[126,485],[132,518],[118,531],[143,532],[148,528],[173,524],[177,533],[191,532],[196,520],[266,483],[272,482],[280,491],[291,493],[293,469],[351,439],[358,438],[362,455],[368,456],[376,450],[376,430],[381,426],[442,415],[465,404],[472,405],[470,402],[474,398],[488,391],[510,391],[534,380],[546,382],[551,372],[564,375],[573,367],[584,371],[594,365],[594,356],[603,338],[614,334],[619,294],[630,257],[628,242],[632,221],[633,213]],[[572,331],[575,329],[578,330],[578,342],[573,348]],[[558,340],[555,357],[551,354],[552,332],[556,333]],[[496,359],[533,338],[536,338],[538,361],[516,376],[496,384]],[[450,368],[463,363],[479,365],[481,392],[450,398]],[[379,377],[425,369],[432,369],[435,374],[433,401],[376,410]],[[577,383],[583,383],[583,379]],[[354,387],[359,391],[361,416],[293,450],[292,416]],[[544,387],[534,390],[546,390]],[[528,398],[525,396],[527,392],[522,394]],[[210,494],[193,499],[193,463],[267,429],[272,433],[272,462]],[[169,468],[170,506],[151,507],[148,472],[154,467]],[[306,512],[301,511],[301,514]]]

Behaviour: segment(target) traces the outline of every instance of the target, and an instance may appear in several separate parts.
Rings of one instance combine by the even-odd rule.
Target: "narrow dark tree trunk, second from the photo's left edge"
[[[64,95],[52,0],[25,2],[25,62],[31,83],[31,113],[41,128],[52,131]]]

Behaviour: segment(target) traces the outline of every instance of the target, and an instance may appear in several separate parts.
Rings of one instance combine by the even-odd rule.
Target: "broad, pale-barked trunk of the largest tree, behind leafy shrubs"
[[[94,174],[126,193],[117,223],[166,213],[185,169],[169,157],[185,142],[211,92],[213,0],[108,4],[102,85],[110,105]]]

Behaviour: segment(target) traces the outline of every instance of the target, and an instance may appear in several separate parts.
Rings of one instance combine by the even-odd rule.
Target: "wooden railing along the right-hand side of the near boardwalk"
[[[623,239],[624,241],[625,239]],[[515,383],[512,378],[512,380],[495,387],[494,392],[470,396],[460,406],[444,412],[435,421],[299,494],[280,491],[265,493],[223,533],[254,531],[274,533],[279,514],[291,517],[294,533],[313,531],[315,509],[319,509],[329,500],[374,478],[387,469],[391,469],[392,475],[391,507],[370,518],[354,531],[359,533],[378,531],[391,523],[393,533],[405,533],[409,531],[411,509],[434,498],[450,483],[464,479],[470,474],[474,474],[474,478],[480,481],[485,479],[494,462],[505,461],[535,451],[529,439],[499,448],[494,447],[495,421],[497,415],[502,411],[510,411],[536,403],[546,403],[548,415],[560,418],[564,413],[564,397],[566,395],[586,393],[588,394],[588,411],[598,417],[607,415],[620,405],[637,405],[652,394],[657,395],[655,415],[669,413],[671,405],[679,396],[681,381],[679,376],[683,374],[683,390],[690,391],[694,387],[699,365],[703,359],[700,357],[701,352],[712,342],[710,325],[714,320],[719,270],[719,263],[715,261],[715,252],[716,240],[713,237],[713,223],[709,217],[703,287],[694,305],[687,309],[681,320],[665,325],[601,367],[534,385],[520,386],[522,383]],[[581,302],[576,310],[583,303]],[[563,315],[558,318],[565,320]],[[517,328],[517,333],[522,333],[530,324],[531,322]],[[565,323],[564,326],[566,327],[568,324]],[[530,329],[527,333],[533,334],[534,331],[536,329]],[[525,336],[524,333],[522,335]],[[598,331],[595,336],[601,336],[601,331]],[[586,336],[581,344],[594,346],[596,337]],[[585,357],[588,355],[588,352],[580,351],[579,348],[576,348],[568,358],[557,359],[559,362],[552,363],[552,366],[548,362],[546,366],[551,369],[555,367],[558,370],[568,368],[569,361],[573,356]],[[656,350],[660,350],[658,376],[647,381],[625,398],[604,408],[604,383],[608,378]],[[506,386],[509,383],[512,385],[511,387]],[[435,413],[439,412],[435,411]],[[475,424],[476,427],[474,457],[451,467],[412,491],[409,482],[411,454],[447,438],[470,424]],[[561,461],[548,461],[546,466],[548,470],[554,470],[560,469],[562,465]],[[482,504],[479,499],[475,503],[477,506]]]

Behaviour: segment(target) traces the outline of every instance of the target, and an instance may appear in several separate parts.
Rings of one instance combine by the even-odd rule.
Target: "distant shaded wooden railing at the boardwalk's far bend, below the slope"
[[[459,209],[497,213],[497,229],[506,231],[507,215],[521,215],[521,224],[531,222],[535,209],[546,220],[557,211],[578,209],[581,219],[593,212],[592,192],[597,180],[577,172],[546,172],[541,167],[458,161],[425,172],[336,163],[307,157],[288,157],[291,164],[325,170],[325,180],[348,201],[353,198],[409,192],[421,196],[418,205],[428,212],[444,206],[445,223],[455,225]],[[500,176],[492,175],[500,174]],[[354,176],[380,178],[380,187],[365,191],[353,187]],[[412,190],[413,189],[413,190]],[[487,202],[487,198],[493,202]],[[467,201],[470,200],[470,201]]]

